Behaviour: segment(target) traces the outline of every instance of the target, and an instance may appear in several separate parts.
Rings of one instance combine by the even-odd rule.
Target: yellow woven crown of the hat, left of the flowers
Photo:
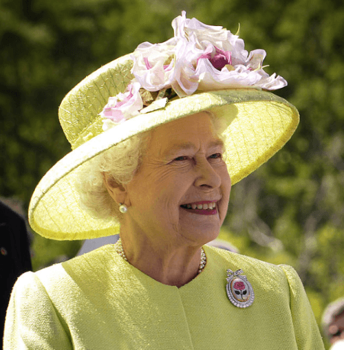
[[[100,67],[63,98],[58,119],[72,149],[103,132],[100,111],[110,96],[125,91],[133,79],[129,55]]]

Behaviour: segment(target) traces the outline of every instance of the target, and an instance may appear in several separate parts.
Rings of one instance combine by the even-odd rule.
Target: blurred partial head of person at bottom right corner
[[[330,303],[321,321],[323,332],[332,344],[331,350],[344,350],[344,298]]]

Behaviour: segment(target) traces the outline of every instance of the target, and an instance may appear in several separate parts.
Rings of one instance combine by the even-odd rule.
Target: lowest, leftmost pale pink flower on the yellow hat
[[[140,96],[140,83],[135,82],[127,86],[124,93],[110,97],[100,116],[103,117],[103,130],[136,116],[143,107]]]

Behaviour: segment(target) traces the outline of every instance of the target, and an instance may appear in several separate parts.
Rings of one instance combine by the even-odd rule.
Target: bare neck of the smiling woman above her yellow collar
[[[121,238],[127,261],[155,281],[182,287],[200,273],[201,247],[169,245],[161,249],[150,242],[132,244],[125,235]]]

